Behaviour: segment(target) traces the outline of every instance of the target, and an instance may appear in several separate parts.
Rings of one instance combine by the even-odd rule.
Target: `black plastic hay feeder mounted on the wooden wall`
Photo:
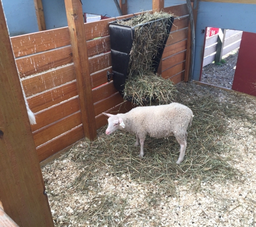
[[[133,17],[123,20],[129,20],[132,18]],[[165,38],[163,45],[158,47],[158,54],[155,56],[154,59],[152,59],[152,68],[154,69],[154,73],[156,73],[163,55],[165,44],[171,31],[172,23],[174,22],[174,17],[164,19],[160,18],[152,22],[148,22],[146,24],[139,24],[133,27],[117,24],[117,20],[109,23],[113,83],[114,87],[119,91],[120,94],[123,94],[124,84],[126,82],[126,77],[128,74],[130,51],[133,46],[135,27],[145,25],[150,26],[151,23],[158,23],[165,19],[167,20],[168,35]]]

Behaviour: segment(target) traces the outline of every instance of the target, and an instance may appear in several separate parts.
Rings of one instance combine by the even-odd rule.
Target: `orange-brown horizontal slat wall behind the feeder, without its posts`
[[[162,76],[177,83],[188,74],[188,10],[186,4],[164,10],[179,16],[174,20],[161,65]],[[123,101],[113,82],[107,82],[107,71],[112,71],[108,23],[113,20],[84,24],[97,129],[107,123],[102,112],[126,112],[132,108],[131,103]],[[70,40],[68,27],[11,38],[27,101],[36,113],[37,124],[31,128],[40,161],[85,136]]]

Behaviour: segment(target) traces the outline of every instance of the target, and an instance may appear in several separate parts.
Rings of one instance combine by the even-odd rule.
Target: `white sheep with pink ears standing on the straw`
[[[168,105],[157,105],[150,107],[136,107],[127,113],[118,113],[108,116],[108,128],[106,134],[109,135],[117,129],[136,134],[135,146],[141,145],[140,157],[143,157],[144,140],[146,135],[151,137],[166,138],[175,136],[181,148],[179,158],[176,162],[180,164],[185,155],[186,130],[191,126],[193,112],[185,105],[171,103]],[[139,141],[140,140],[140,141]]]

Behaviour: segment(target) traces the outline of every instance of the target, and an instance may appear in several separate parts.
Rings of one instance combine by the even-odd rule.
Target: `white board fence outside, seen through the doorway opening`
[[[219,33],[223,36],[223,40],[219,40],[220,34],[216,34],[205,40],[203,67],[216,60],[217,52],[219,54],[218,59],[222,59],[222,56],[240,46],[243,31],[224,30],[222,33],[220,30]]]

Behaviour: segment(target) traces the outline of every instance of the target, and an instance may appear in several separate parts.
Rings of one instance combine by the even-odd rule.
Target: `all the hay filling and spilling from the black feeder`
[[[168,23],[172,16],[165,12],[146,12],[129,20],[117,20],[117,24],[134,27],[128,81],[123,91],[125,100],[137,105],[151,105],[153,100],[154,104],[167,104],[173,100],[172,82],[154,73],[155,58],[169,36]]]

